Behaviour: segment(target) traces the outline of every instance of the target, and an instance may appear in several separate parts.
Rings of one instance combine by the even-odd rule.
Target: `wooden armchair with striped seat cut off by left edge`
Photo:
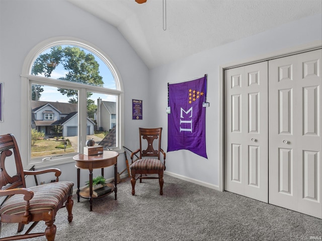
[[[12,154],[14,153],[14,156]],[[6,161],[6,163],[5,163]],[[16,166],[17,174],[10,175],[6,167]],[[73,182],[58,182],[61,171],[47,169],[41,171],[24,171],[15,137],[12,134],[0,136],[0,197],[5,199],[0,207],[0,233],[1,223],[19,223],[18,232],[25,224],[33,222],[29,229],[20,235],[3,237],[0,240],[17,240],[45,235],[47,240],[55,240],[56,226],[54,224],[56,212],[66,207],[68,221],[72,221]],[[56,182],[26,188],[25,175],[38,175],[54,172]],[[66,202],[66,203],[65,203]],[[65,203],[65,205],[64,205]],[[45,221],[46,229],[42,233],[30,233],[39,221]]]

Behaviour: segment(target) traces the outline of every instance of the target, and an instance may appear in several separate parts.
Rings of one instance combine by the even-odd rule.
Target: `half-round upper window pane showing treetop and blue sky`
[[[114,76],[104,61],[87,49],[57,45],[42,52],[31,74],[116,89]]]

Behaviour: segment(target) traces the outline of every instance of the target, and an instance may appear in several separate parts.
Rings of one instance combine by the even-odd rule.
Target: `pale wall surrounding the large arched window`
[[[125,146],[137,148],[133,142],[138,139],[138,127],[148,123],[147,67],[115,27],[62,0],[0,1],[0,82],[4,83],[5,100],[0,135],[13,133],[18,145],[24,145],[21,143],[20,97],[23,62],[38,43],[60,36],[83,39],[113,60],[121,74],[125,92]],[[132,99],[144,100],[142,121],[132,121]],[[120,154],[118,160],[118,170],[122,171],[126,167],[124,155]],[[61,180],[76,183],[74,163],[55,167],[62,170]],[[112,177],[113,168],[107,168],[106,173]],[[100,170],[95,170],[94,176],[99,174]],[[82,170],[81,178],[81,185],[85,185],[88,171]],[[47,177],[44,181],[48,181],[45,179]]]

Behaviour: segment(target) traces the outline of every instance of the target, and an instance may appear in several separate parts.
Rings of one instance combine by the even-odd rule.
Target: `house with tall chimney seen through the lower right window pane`
[[[97,111],[94,119],[97,122],[97,129],[100,131],[110,131],[116,126],[116,102],[103,101],[97,99]]]

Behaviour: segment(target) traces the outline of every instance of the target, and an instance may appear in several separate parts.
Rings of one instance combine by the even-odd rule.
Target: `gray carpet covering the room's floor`
[[[164,195],[157,180],[136,183],[131,195],[129,179],[114,193],[89,202],[74,196],[73,221],[60,209],[56,240],[313,240],[322,236],[322,220],[229,192],[219,192],[165,175]],[[27,230],[25,227],[25,230]],[[17,225],[2,226],[2,235]],[[43,231],[39,223],[35,231]],[[45,240],[37,237],[28,240]]]

